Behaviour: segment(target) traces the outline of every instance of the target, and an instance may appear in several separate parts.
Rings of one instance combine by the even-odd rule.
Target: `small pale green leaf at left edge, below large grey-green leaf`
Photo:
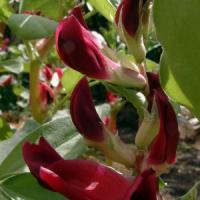
[[[19,74],[23,71],[23,64],[19,59],[0,61],[0,68],[1,67],[15,74]]]

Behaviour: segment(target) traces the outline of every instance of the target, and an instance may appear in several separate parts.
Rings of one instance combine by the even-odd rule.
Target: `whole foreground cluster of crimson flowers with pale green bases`
[[[112,161],[135,170],[125,177],[89,160],[64,160],[42,137],[38,145],[25,142],[23,156],[31,173],[46,188],[72,200],[158,200],[158,176],[175,161],[178,126],[175,112],[161,88],[159,77],[141,70],[145,52],[143,37],[150,0],[123,0],[115,24],[136,58],[136,63],[112,59],[109,48],[89,31],[80,7],[61,21],[56,30],[56,48],[62,61],[85,76],[74,88],[70,101],[72,121],[91,145]],[[110,50],[109,50],[110,51]],[[49,68],[43,70],[51,80]],[[144,92],[148,107],[135,144],[125,144],[115,128],[98,116],[88,78],[131,87]]]

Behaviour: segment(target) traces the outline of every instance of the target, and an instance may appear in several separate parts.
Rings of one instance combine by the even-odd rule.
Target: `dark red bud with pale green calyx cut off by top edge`
[[[115,15],[118,33],[138,63],[143,62],[146,54],[143,41],[143,20],[146,22],[143,14],[146,4],[149,4],[149,0],[122,0]]]

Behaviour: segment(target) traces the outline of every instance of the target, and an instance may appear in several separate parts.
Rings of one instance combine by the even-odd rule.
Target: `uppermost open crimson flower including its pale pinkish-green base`
[[[83,20],[80,8],[61,21],[56,29],[56,48],[69,67],[94,79],[106,80],[126,87],[144,88],[146,80],[139,70],[122,67],[101,51],[97,38]]]

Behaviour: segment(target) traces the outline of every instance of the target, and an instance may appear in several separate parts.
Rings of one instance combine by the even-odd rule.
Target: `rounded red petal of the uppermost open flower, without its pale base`
[[[86,30],[73,16],[59,23],[56,30],[56,47],[64,63],[96,79],[108,78],[107,61]]]

